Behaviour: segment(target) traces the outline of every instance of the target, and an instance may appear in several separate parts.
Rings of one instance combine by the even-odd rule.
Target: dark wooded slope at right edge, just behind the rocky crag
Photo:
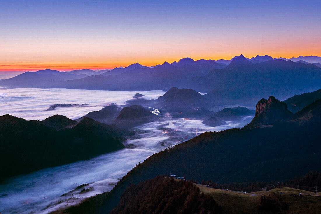
[[[296,113],[318,99],[321,99],[321,89],[314,92],[294,95],[283,101],[283,103],[286,103],[291,112]]]

